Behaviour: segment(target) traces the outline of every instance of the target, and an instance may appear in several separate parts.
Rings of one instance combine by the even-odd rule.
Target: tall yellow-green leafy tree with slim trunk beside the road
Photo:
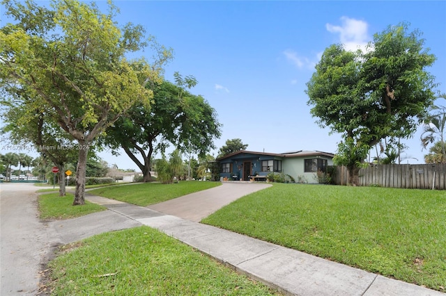
[[[145,85],[159,79],[159,65],[170,51],[161,48],[154,65],[143,58],[128,60],[127,54],[148,40],[141,26],[116,25],[111,2],[107,14],[77,0],[54,0],[50,7],[5,0],[3,6],[14,22],[0,30],[0,87],[22,86],[35,98],[24,118],[50,108],[77,141],[73,204],[84,204],[89,147],[130,106],[149,104],[152,93]]]

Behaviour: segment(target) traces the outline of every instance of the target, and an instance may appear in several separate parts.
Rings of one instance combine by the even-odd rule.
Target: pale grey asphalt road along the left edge
[[[52,246],[33,183],[0,183],[0,295],[36,295]]]

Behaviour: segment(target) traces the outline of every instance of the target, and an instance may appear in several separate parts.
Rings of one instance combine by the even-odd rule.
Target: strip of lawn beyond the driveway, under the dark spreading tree
[[[89,193],[138,206],[148,206],[220,185],[222,183],[210,181],[180,181],[173,184],[138,183],[99,188],[90,190]]]

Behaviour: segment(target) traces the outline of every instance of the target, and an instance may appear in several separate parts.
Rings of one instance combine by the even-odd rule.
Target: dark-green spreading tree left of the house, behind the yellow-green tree
[[[169,143],[183,151],[206,154],[220,137],[220,123],[214,108],[187,88],[197,81],[192,76],[175,74],[176,84],[163,81],[151,85],[153,104],[137,104],[107,130],[107,142],[114,151],[122,147],[151,181],[151,158],[156,149],[164,151]],[[138,156],[141,156],[142,161]]]

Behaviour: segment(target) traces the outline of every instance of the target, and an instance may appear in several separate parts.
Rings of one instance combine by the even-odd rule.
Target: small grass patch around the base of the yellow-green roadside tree
[[[38,197],[40,219],[70,219],[107,209],[105,206],[89,202],[86,202],[83,206],[73,206],[74,199],[75,197],[70,193],[67,193],[64,197],[59,197],[59,192],[40,195]]]

